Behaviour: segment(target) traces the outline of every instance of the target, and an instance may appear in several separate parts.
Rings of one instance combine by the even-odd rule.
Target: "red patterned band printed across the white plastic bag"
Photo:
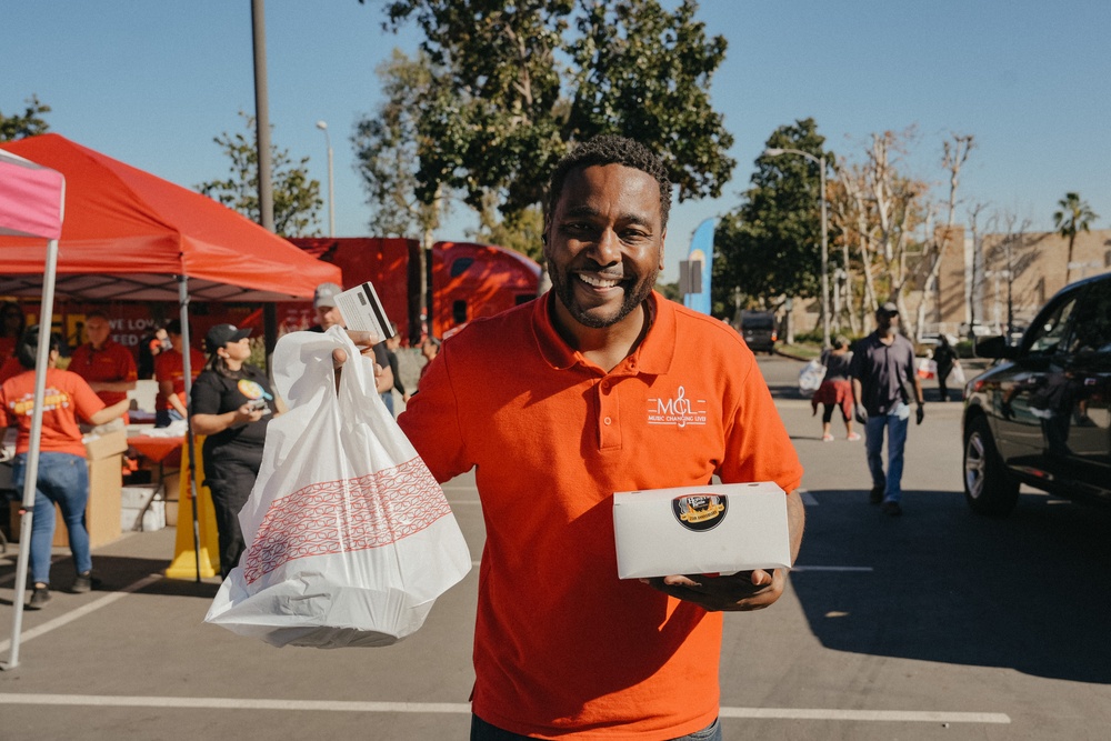
[[[294,559],[389,545],[450,513],[419,458],[358,479],[313,483],[270,504],[243,559],[243,577],[253,583]]]

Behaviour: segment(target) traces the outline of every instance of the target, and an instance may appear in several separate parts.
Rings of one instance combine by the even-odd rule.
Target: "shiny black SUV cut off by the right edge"
[[[1111,503],[1111,273],[1062,289],[1017,346],[994,337],[998,362],[964,389],[964,495],[1008,514],[1025,483]]]

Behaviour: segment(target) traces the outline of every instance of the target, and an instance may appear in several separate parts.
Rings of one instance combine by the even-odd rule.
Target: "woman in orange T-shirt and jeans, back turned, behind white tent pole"
[[[22,491],[27,475],[27,452],[31,445],[31,414],[34,411],[34,363],[39,329],[28,328],[17,348],[23,367],[0,385],[0,428],[18,427],[12,485]],[[128,409],[128,400],[106,407],[89,384],[77,373],[59,370],[61,341],[50,337],[46,395],[42,408],[42,434],[39,447],[39,471],[31,521],[31,580],[33,591],[29,608],[39,609],[50,600],[50,549],[54,538],[54,504],[62,511],[69,530],[70,550],[77,578],[72,591],[92,589],[92,557],[89,532],[84,527],[84,508],[89,501],[89,464],[78,418],[90,424],[106,424]]]

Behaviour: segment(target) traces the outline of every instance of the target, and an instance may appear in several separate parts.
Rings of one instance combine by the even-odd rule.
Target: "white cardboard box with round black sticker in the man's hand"
[[[773,482],[613,494],[618,577],[789,569],[787,494]]]

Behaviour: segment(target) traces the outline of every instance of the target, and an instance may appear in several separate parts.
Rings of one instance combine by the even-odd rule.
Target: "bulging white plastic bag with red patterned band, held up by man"
[[[247,550],[204,620],[273,645],[394,643],[470,570],[463,535],[342,330],[286,334],[272,362],[290,410],[267,429]]]

